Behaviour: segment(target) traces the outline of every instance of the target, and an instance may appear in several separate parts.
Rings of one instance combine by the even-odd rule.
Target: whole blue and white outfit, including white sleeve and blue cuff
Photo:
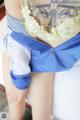
[[[25,32],[22,22],[7,16],[9,32],[5,37],[11,57],[10,76],[19,89],[31,83],[31,72],[59,72],[73,67],[80,59],[80,33],[52,48]]]

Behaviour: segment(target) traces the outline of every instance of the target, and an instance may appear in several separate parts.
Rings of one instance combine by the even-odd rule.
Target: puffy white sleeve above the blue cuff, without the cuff
[[[17,43],[11,36],[7,39],[7,51],[11,58],[10,70],[16,75],[29,74],[30,50]]]

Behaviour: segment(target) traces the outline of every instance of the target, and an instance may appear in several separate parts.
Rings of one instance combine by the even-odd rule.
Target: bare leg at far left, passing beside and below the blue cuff
[[[17,89],[9,77],[9,57],[3,55],[3,73],[5,79],[5,88],[9,104],[9,120],[21,120],[25,110],[25,97],[28,94],[28,89]]]

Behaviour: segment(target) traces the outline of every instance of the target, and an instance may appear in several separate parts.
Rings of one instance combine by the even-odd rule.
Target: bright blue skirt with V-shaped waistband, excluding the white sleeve
[[[23,33],[13,31],[11,37],[31,50],[32,72],[68,70],[80,59],[80,33],[55,48]]]

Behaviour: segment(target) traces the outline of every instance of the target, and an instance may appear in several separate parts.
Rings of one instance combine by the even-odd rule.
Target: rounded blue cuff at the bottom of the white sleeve
[[[11,71],[10,76],[16,88],[24,90],[30,86],[30,83],[31,83],[30,73],[25,75],[15,75],[13,71]]]

